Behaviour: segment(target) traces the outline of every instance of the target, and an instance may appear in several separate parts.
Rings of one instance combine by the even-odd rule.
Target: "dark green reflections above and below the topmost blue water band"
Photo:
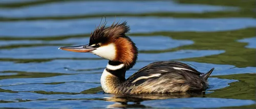
[[[48,4],[52,2],[70,2],[71,0],[44,0],[44,1],[29,1],[23,3],[11,3],[11,4],[0,4],[0,7],[5,8],[19,8],[31,5],[41,5]],[[106,13],[106,14],[86,14],[86,15],[72,15],[72,16],[46,16],[46,17],[25,17],[25,18],[15,18],[15,17],[0,17],[0,21],[17,21],[17,20],[43,20],[43,19],[78,19],[78,18],[93,18],[93,17],[115,17],[115,16],[158,16],[158,17],[189,17],[189,18],[211,18],[211,17],[256,17],[253,11],[254,0],[228,0],[228,1],[189,1],[189,0],[176,0],[181,4],[206,4],[206,5],[219,5],[219,6],[233,6],[239,7],[238,11],[217,11],[217,12],[203,12],[203,13],[178,13],[178,12],[153,12],[153,13]]]

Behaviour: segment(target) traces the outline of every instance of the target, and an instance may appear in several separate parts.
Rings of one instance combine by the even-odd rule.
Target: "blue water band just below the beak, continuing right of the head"
[[[1,50],[0,58],[22,58],[22,59],[99,58],[98,56],[90,53],[67,52],[67,51],[57,50],[57,48],[58,47],[56,46],[46,46],[46,47]],[[166,53],[158,53],[158,54],[139,53],[138,58],[140,60],[182,59],[182,58],[190,58],[190,57],[201,57],[201,56],[207,56],[207,55],[217,55],[224,52],[225,52],[224,50],[179,50],[175,52],[166,52]]]

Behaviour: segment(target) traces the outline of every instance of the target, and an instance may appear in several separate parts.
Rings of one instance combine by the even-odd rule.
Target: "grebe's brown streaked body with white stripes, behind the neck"
[[[177,61],[153,62],[126,79],[123,93],[172,93],[203,91],[207,88],[207,78],[203,73]]]

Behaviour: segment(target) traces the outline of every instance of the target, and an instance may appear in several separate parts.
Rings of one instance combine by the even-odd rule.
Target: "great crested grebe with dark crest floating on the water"
[[[90,52],[108,59],[109,63],[100,78],[105,93],[161,94],[204,91],[208,88],[207,78],[214,68],[204,74],[177,61],[150,63],[125,79],[125,72],[135,65],[138,56],[135,43],[125,35],[130,30],[126,24],[126,21],[123,21],[105,28],[105,22],[91,33],[88,45],[59,49]]]

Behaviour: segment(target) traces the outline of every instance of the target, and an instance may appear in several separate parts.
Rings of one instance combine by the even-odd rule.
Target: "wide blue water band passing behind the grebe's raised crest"
[[[99,25],[100,20],[101,18],[7,21],[1,23],[0,35],[11,37],[49,37],[69,34],[89,34],[95,26]],[[256,19],[254,18],[108,17],[107,20],[107,26],[110,26],[113,21],[126,20],[131,27],[131,33],[157,31],[225,31],[256,26]]]

